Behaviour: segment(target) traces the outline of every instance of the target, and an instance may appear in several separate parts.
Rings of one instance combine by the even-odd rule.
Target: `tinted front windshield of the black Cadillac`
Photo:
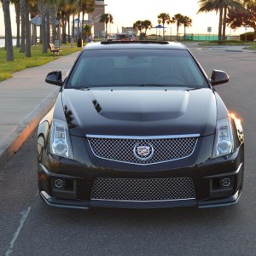
[[[66,88],[96,86],[181,86],[201,88],[207,82],[187,50],[84,50]]]

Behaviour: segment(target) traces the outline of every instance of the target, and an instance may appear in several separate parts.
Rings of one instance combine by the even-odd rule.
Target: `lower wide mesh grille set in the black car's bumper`
[[[90,199],[106,201],[174,201],[195,199],[190,177],[108,178],[98,177]]]

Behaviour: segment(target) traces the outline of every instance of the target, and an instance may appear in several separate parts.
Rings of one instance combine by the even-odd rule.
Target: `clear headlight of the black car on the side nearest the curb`
[[[51,154],[73,159],[73,150],[66,122],[53,119],[49,151]]]

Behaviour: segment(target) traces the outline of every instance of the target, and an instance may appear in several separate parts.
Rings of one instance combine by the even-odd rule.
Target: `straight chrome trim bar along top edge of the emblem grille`
[[[200,137],[199,133],[195,134],[183,134],[183,135],[160,135],[160,136],[122,136],[122,135],[96,135],[86,134],[85,137],[92,138],[108,138],[108,139],[172,139],[172,138],[183,138],[183,137]]]

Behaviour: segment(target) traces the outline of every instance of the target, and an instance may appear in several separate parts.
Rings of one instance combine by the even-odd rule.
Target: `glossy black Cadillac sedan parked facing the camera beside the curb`
[[[183,44],[87,44],[38,126],[38,186],[50,206],[220,207],[244,169],[240,119]]]

